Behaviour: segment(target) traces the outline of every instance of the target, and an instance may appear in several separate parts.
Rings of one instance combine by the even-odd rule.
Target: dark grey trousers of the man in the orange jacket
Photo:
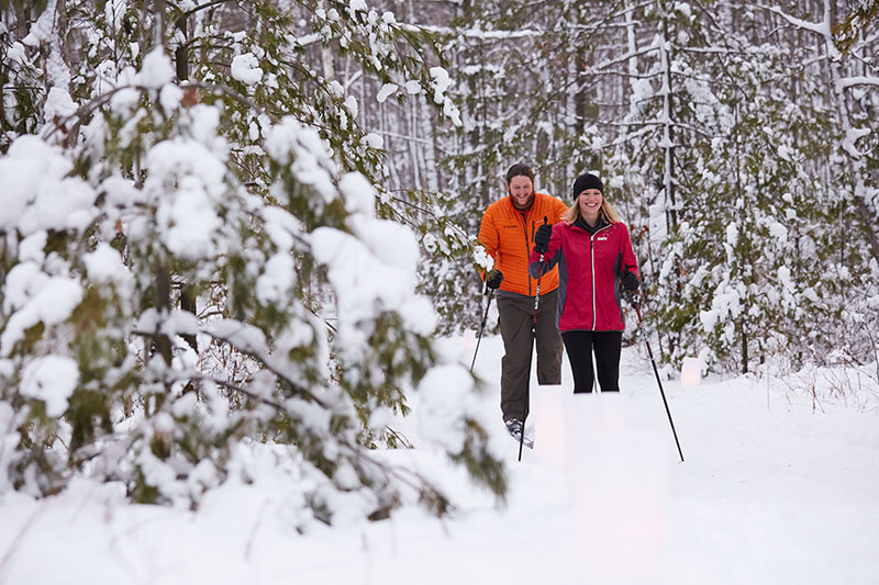
[[[537,382],[561,383],[561,338],[556,328],[557,292],[541,294],[537,311]],[[533,296],[498,296],[504,356],[501,359],[501,413],[504,420],[527,414],[534,319]]]

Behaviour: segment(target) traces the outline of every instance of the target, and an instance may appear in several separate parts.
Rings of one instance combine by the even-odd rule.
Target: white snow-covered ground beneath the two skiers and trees
[[[448,348],[469,363],[465,341]],[[497,380],[500,340],[479,352],[477,370]],[[542,389],[522,462],[492,385],[482,404],[509,461],[505,506],[435,452],[385,454],[446,485],[458,507],[445,521],[409,507],[300,536],[268,453],[264,481],[229,483],[197,514],[124,505],[113,486],[87,482],[43,502],[7,495],[0,585],[875,585],[879,387],[875,373],[845,373],[665,382],[683,463],[637,348],[624,350],[619,400]],[[814,405],[803,390],[813,381]],[[401,429],[416,441],[413,420]]]

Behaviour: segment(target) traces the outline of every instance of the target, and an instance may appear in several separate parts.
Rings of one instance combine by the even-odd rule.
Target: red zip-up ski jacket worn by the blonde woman
[[[528,272],[539,273],[541,255],[532,249]],[[610,224],[594,235],[565,222],[553,226],[549,251],[544,255],[544,271],[558,265],[556,326],[561,333],[622,331],[625,329],[620,303],[620,274],[638,275],[628,229],[623,223]]]

